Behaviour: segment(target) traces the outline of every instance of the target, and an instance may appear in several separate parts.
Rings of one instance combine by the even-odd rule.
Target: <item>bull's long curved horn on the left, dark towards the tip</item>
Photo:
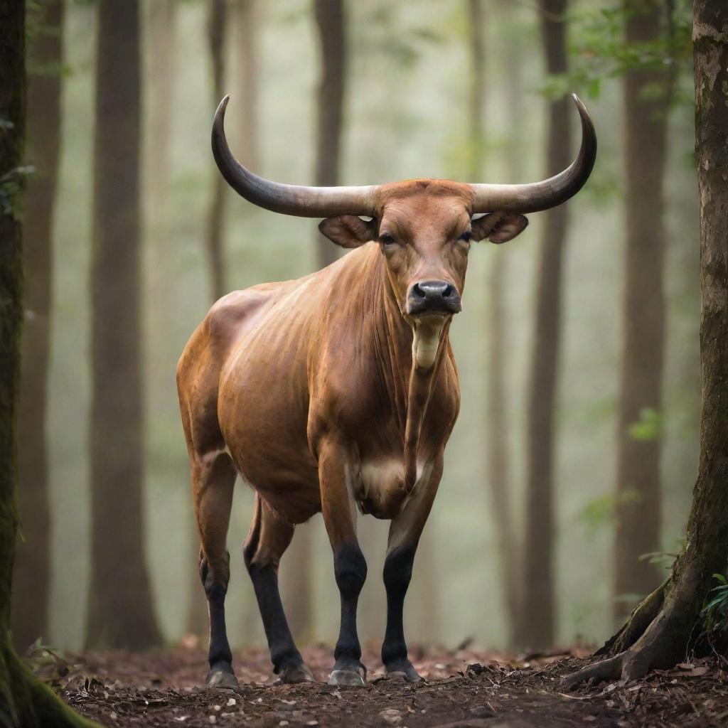
[[[213,120],[213,157],[227,183],[237,194],[274,213],[325,218],[329,215],[374,215],[376,186],[304,187],[271,182],[246,170],[233,157],[225,138],[227,95]]]

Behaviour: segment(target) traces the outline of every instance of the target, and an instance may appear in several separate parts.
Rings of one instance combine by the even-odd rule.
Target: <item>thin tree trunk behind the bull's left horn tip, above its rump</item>
[[[223,97],[226,0],[210,0],[209,7],[207,43],[210,49],[210,60],[213,64],[214,103],[217,105]],[[215,170],[210,207],[207,210],[207,257],[210,260],[210,290],[213,301],[217,301],[226,292],[223,261],[225,191],[226,182],[223,176]]]

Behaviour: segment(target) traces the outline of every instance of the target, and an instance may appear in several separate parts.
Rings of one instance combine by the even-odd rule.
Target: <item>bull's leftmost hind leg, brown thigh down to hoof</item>
[[[199,576],[210,614],[207,687],[237,687],[225,628],[225,595],[230,579],[226,541],[235,484],[235,468],[225,452],[192,456],[194,512],[199,529]]]

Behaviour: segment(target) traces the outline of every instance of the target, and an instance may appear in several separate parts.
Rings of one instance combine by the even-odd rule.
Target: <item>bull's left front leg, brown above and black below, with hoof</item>
[[[366,681],[357,635],[357,603],[367,569],[357,541],[350,472],[347,448],[331,440],[320,446],[321,509],[333,549],[333,570],[341,596],[341,628],[333,652],[336,664],[328,681],[330,685],[363,685]]]

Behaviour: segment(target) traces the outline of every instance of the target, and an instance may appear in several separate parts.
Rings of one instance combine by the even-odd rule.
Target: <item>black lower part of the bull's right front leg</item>
[[[403,625],[405,595],[412,578],[416,546],[400,546],[384,561],[384,587],[387,589],[387,630],[381,646],[381,661],[387,672],[403,672],[408,679],[419,678],[407,657]]]

